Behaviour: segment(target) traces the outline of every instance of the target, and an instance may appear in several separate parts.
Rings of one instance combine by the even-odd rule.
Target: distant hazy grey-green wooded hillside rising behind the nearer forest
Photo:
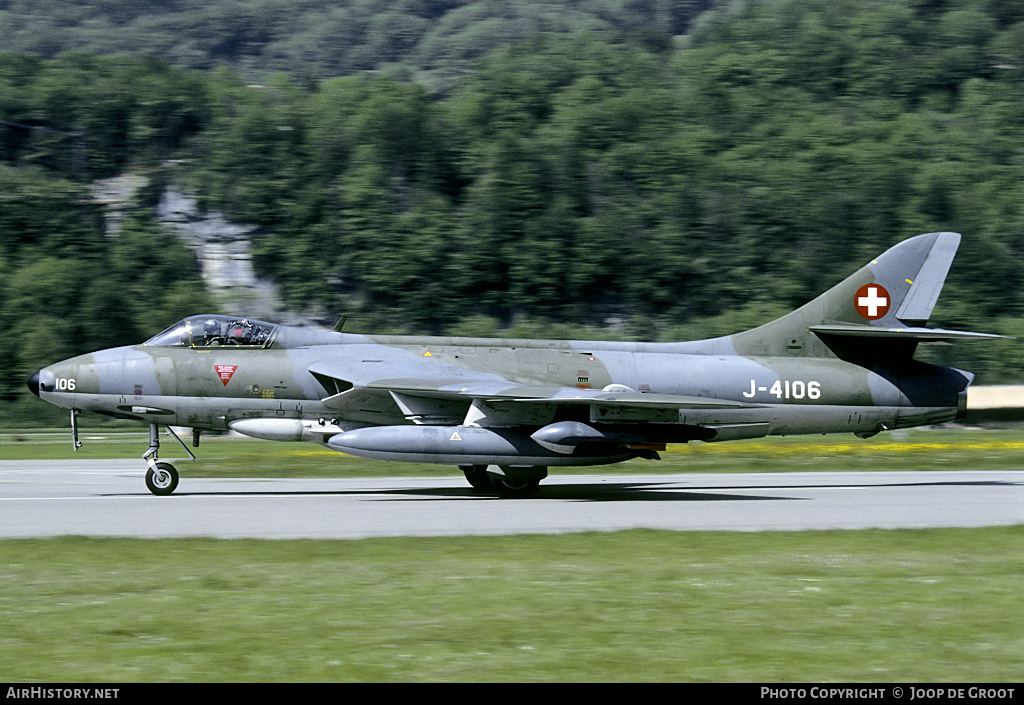
[[[0,2],[4,50],[155,56],[323,80],[381,71],[440,84],[538,33],[593,32],[667,45],[712,0],[98,0]],[[182,40],[182,38],[184,38]]]

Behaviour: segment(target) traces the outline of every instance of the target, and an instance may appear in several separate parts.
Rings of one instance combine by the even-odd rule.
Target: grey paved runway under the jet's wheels
[[[462,478],[208,480],[170,497],[137,460],[0,461],[0,537],[365,538],[622,529],[1024,524],[1024,471],[553,475],[529,499]]]

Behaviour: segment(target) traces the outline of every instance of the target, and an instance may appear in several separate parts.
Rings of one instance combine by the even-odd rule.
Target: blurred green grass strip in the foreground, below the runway
[[[1019,681],[1024,528],[0,541],[6,681]]]

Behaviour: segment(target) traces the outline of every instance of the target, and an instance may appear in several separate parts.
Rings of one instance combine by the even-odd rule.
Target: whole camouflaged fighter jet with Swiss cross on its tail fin
[[[83,411],[148,424],[157,495],[178,484],[158,459],[160,428],[184,426],[197,446],[203,431],[308,441],[456,465],[481,492],[525,496],[550,467],[656,459],[670,443],[962,418],[974,375],[914,360],[923,342],[1000,337],[926,327],[959,242],[905,240],[797,310],[707,340],[357,335],[194,316],[50,365],[29,387],[71,410],[76,450]]]

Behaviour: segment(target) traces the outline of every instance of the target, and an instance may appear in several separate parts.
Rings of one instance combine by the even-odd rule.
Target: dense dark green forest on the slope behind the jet
[[[58,3],[33,6],[48,4],[55,23]],[[286,33],[274,8],[289,4],[309,32]],[[1015,3],[752,0],[693,22],[703,4],[123,10],[154,37],[225,17],[179,38],[181,55],[155,43],[155,56],[137,37],[103,44],[95,8],[115,3],[48,37],[12,18],[22,5],[0,2],[0,30],[17,28],[17,52],[0,55],[3,401],[43,364],[212,305],[190,252],[153,217],[168,183],[258,225],[258,271],[297,308],[353,315],[351,330],[729,333],[899,240],[952,230],[965,239],[934,321],[1024,335]],[[588,22],[556,11],[568,5]],[[694,11],[673,13],[684,5]],[[650,22],[631,24],[631,8]],[[333,13],[365,19],[359,39],[332,34]],[[431,43],[445,32],[463,43]],[[256,64],[274,72],[256,83]],[[125,171],[152,185],[108,236],[89,183]],[[925,355],[1021,381],[1018,346]]]

